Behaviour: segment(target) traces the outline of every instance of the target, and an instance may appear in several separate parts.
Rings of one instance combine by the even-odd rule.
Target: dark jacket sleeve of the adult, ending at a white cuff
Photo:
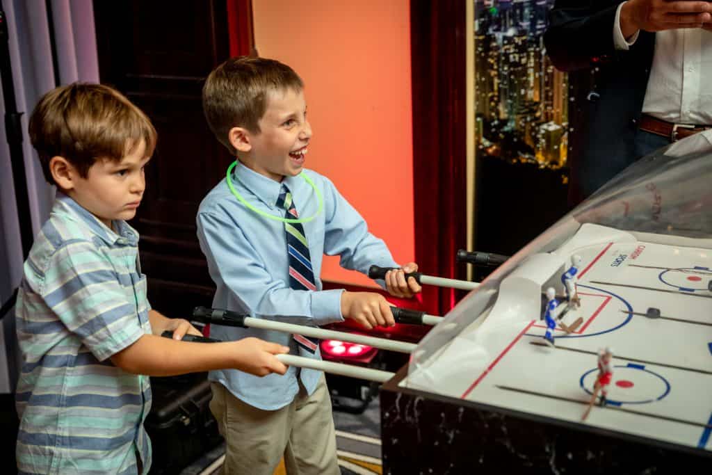
[[[544,33],[554,66],[577,71],[616,58],[613,23],[619,4],[622,1],[557,0]]]

